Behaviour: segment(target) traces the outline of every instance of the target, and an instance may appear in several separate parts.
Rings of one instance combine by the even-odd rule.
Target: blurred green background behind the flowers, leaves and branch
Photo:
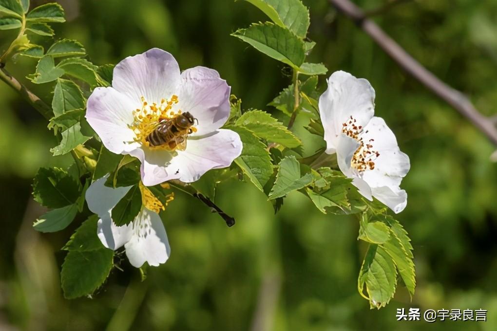
[[[35,4],[48,1],[31,1]],[[182,69],[217,69],[245,109],[265,106],[289,84],[288,71],[230,33],[266,20],[232,0],[60,0],[68,23],[58,38],[77,39],[98,65],[152,47]],[[44,210],[31,199],[38,167],[66,166],[46,122],[0,84],[0,330],[497,330],[497,164],[495,150],[464,118],[406,75],[327,0],[311,10],[311,61],[346,70],[376,89],[376,114],[411,157],[403,181],[409,203],[398,219],[414,246],[417,288],[402,286],[380,311],[357,293],[365,246],[355,218],[321,214],[298,193],[273,216],[252,185],[218,187],[216,202],[233,228],[200,202],[177,194],[162,214],[169,261],[140,282],[126,259],[93,298],[68,301],[60,289],[60,248],[83,219],[56,234],[31,224]],[[387,0],[355,0],[373,9]],[[491,115],[497,103],[497,2],[412,0],[375,20],[414,58]],[[11,34],[0,33],[9,42]],[[47,43],[48,45],[49,43]],[[17,59],[18,78],[35,62]],[[324,87],[324,77],[320,80]],[[29,84],[28,84],[29,85]],[[48,89],[32,86],[50,100]],[[396,309],[487,309],[487,322],[397,322]]]

